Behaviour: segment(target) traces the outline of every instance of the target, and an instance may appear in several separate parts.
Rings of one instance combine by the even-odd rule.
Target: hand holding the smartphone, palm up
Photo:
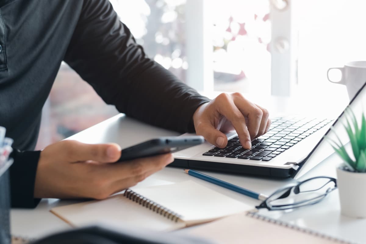
[[[172,154],[164,154],[111,164],[120,158],[120,151],[114,143],[51,144],[40,155],[34,197],[104,199],[173,162]]]

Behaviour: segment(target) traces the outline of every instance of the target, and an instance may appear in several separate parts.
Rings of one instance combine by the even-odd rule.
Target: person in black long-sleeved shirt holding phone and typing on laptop
[[[218,147],[234,127],[242,146],[268,131],[268,112],[242,95],[210,101],[146,57],[108,0],[0,0],[0,125],[14,139],[13,207],[40,198],[103,199],[173,161],[171,154],[111,164],[116,144],[36,144],[42,106],[61,61],[126,115]],[[221,128],[218,128],[222,124]],[[221,130],[221,131],[220,131]]]

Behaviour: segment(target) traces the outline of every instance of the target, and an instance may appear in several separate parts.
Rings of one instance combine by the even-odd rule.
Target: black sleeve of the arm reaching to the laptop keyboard
[[[209,99],[149,59],[108,0],[85,0],[64,59],[107,104],[146,123],[193,132]]]

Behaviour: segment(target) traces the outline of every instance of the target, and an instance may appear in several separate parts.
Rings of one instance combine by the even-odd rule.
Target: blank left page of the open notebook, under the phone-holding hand
[[[74,226],[108,223],[116,228],[174,230],[185,227],[182,222],[174,222],[127,199],[122,194],[101,201],[88,201],[55,207],[52,213]]]

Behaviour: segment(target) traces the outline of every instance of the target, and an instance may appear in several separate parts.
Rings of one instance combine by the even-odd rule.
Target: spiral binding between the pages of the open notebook
[[[178,221],[182,221],[182,215],[179,215],[173,211],[171,211],[170,209],[161,206],[159,204],[157,204],[156,202],[145,198],[144,196],[141,196],[140,194],[132,191],[131,189],[127,189],[123,196],[126,196],[126,198],[142,205],[143,207],[146,207],[147,209],[150,209],[154,212],[156,212],[157,214],[163,215],[163,217],[166,217],[168,219],[171,219],[172,221],[178,222]]]

